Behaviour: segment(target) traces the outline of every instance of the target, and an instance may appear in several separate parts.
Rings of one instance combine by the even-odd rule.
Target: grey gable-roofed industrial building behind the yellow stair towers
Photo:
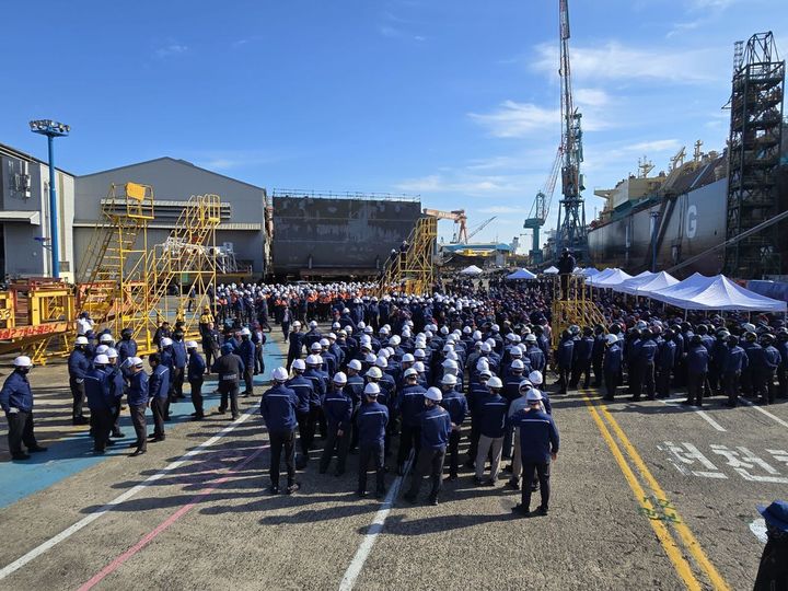
[[[79,254],[86,251],[96,223],[102,221],[101,208],[109,186],[129,182],[153,187],[155,219],[148,224],[149,244],[166,240],[192,195],[219,195],[222,205],[217,245],[223,255],[231,255],[231,265],[220,271],[264,276],[268,259],[266,190],[167,157],[77,177],[73,195],[78,211],[73,219],[77,268]],[[235,269],[231,270],[233,266]]]

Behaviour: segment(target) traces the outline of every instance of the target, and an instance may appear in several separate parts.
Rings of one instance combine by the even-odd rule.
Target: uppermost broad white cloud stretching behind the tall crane
[[[720,63],[727,54],[717,47],[707,49],[662,49],[629,47],[612,40],[594,47],[572,47],[572,76],[578,80],[661,80],[703,83],[722,80]],[[536,46],[536,71],[551,78],[558,68],[558,49],[554,44]]]

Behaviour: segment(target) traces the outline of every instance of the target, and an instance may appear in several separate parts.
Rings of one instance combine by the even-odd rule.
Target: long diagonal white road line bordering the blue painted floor
[[[230,425],[224,427],[217,434],[215,434],[210,439],[204,441],[202,443],[197,445],[195,449],[187,451],[185,454],[183,454],[181,457],[178,457],[177,460],[175,460],[174,462],[169,464],[166,467],[157,472],[152,476],[146,478],[142,483],[138,484],[137,486],[129,488],[126,493],[124,493],[119,497],[111,500],[108,503],[106,503],[104,507],[102,507],[97,511],[94,511],[93,513],[82,518],[81,520],[79,520],[77,523],[74,523],[70,528],[67,528],[59,534],[55,535],[54,537],[50,537],[43,544],[36,546],[35,548],[30,551],[24,556],[18,558],[10,565],[3,567],[0,570],[0,580],[3,580],[9,575],[16,572],[20,568],[25,566],[27,563],[34,560],[38,556],[45,554],[46,552],[48,552],[49,549],[55,547],[60,542],[68,540],[69,537],[71,537],[73,534],[76,534],[80,530],[82,530],[82,529],[86,528],[88,525],[90,525],[91,523],[93,523],[96,519],[99,519],[103,514],[112,511],[116,506],[120,505],[121,502],[124,502],[124,501],[130,499],[131,497],[134,497],[135,495],[137,495],[137,493],[144,490],[154,482],[161,479],[162,477],[166,476],[169,473],[171,473],[175,468],[177,468],[181,465],[183,465],[184,463],[186,463],[186,461],[189,457],[193,457],[193,456],[197,455],[198,453],[202,452],[204,450],[206,450],[207,448],[210,448],[211,445],[213,445],[213,443],[216,443],[220,439],[224,438],[227,434],[232,432],[239,425],[241,425],[247,418],[250,418],[255,412],[257,412],[258,408],[259,408],[259,406],[253,406],[252,408],[246,410],[243,415],[241,415],[236,420],[234,420],[233,422],[231,422]]]

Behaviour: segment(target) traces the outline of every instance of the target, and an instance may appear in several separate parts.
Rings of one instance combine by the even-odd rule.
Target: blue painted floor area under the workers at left
[[[266,371],[263,374],[255,375],[255,402],[259,402],[259,395],[269,384],[269,375],[276,368],[279,356],[266,352],[265,357]],[[215,380],[206,381],[202,385],[204,407],[206,410],[211,407],[219,406],[219,394],[211,394],[216,390],[217,382]],[[243,392],[243,382],[241,382],[241,392]],[[184,393],[188,394],[188,384],[185,384]],[[250,398],[252,399],[252,398]],[[126,414],[120,417],[120,430],[126,437],[114,439],[115,445],[107,448],[104,455],[95,455],[93,453],[93,439],[85,429],[84,432],[65,438],[59,441],[45,443],[48,447],[46,452],[31,454],[30,460],[10,461],[0,464],[0,509],[12,505],[20,499],[33,495],[38,490],[43,490],[63,478],[68,478],[83,470],[86,470],[100,462],[116,455],[128,455],[131,453],[129,444],[136,440],[131,418]],[[185,422],[190,419],[194,413],[194,406],[190,398],[179,401],[170,407],[172,421],[165,422],[165,430],[172,429],[178,422]],[[227,417],[227,425],[230,424],[229,412],[223,415]],[[150,409],[147,413],[148,432],[153,432],[153,415]],[[211,421],[211,425],[216,422]],[[162,445],[165,443],[152,443],[151,445]],[[142,456],[144,457],[144,456]],[[129,462],[134,462],[130,459]]]

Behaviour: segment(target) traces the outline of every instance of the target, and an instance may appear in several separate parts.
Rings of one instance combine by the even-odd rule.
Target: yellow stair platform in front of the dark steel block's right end
[[[378,294],[390,291],[424,296],[434,282],[434,250],[438,218],[426,216],[416,221],[407,240],[407,250],[392,254],[383,269]]]

